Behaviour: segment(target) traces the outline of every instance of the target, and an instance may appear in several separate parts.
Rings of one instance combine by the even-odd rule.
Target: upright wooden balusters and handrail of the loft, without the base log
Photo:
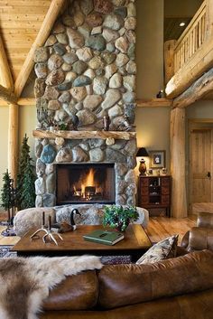
[[[204,1],[174,47],[174,73],[198,51],[207,38],[207,3]]]

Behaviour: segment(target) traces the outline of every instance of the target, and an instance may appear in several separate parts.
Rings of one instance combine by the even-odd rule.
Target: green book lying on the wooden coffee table
[[[104,245],[115,245],[116,242],[124,239],[125,236],[122,232],[109,231],[109,230],[94,230],[87,235],[84,235],[85,240],[98,242]]]

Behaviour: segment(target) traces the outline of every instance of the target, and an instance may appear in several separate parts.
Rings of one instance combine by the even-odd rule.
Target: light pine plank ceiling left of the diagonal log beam
[[[14,81],[50,5],[51,0],[0,0],[0,34]]]

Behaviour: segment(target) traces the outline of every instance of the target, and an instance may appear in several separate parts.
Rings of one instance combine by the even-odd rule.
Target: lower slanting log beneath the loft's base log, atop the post
[[[186,108],[195,101],[202,99],[213,90],[213,68],[208,70],[199,80],[196,80],[189,89],[173,101],[173,108]]]

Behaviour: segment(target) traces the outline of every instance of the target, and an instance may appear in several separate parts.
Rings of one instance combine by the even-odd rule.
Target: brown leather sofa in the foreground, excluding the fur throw
[[[213,319],[213,252],[67,277],[41,319]]]

